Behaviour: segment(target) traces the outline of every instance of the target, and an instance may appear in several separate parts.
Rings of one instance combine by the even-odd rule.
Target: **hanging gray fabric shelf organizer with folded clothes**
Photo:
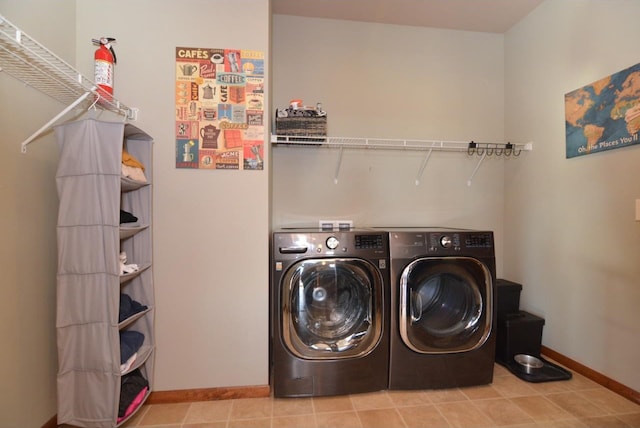
[[[130,124],[85,119],[55,128],[58,275],[58,424],[114,427],[121,377],[135,369],[153,389],[154,291],[151,235],[152,138]],[[144,166],[147,183],[122,177],[122,150]],[[139,230],[120,233],[120,209],[138,217]],[[119,254],[140,266],[121,275]],[[147,305],[119,323],[120,293]],[[120,331],[144,334],[136,360],[121,372]],[[135,412],[134,412],[135,413]],[[130,415],[132,416],[132,415]],[[130,417],[129,416],[129,417]]]

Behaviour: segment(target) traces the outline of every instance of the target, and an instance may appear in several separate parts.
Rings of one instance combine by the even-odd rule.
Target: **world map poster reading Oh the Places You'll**
[[[564,96],[567,159],[640,143],[640,64]]]

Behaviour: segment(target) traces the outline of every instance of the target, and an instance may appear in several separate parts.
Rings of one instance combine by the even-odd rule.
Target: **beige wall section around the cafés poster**
[[[175,48],[268,55],[269,14],[261,0],[77,3],[78,68],[92,73],[92,37],[115,37],[115,94],[155,139],[158,390],[268,383],[269,170],[176,169],[173,135]]]

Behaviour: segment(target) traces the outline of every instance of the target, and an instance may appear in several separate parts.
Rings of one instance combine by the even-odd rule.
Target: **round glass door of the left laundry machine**
[[[378,269],[354,258],[308,259],[282,279],[282,337],[306,359],[351,358],[371,352],[382,334]]]

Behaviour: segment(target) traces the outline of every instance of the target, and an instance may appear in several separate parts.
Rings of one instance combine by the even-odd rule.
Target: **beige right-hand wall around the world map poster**
[[[640,2],[546,1],[505,36],[505,275],[543,344],[640,390],[640,147],[565,158],[564,94],[638,63]]]

